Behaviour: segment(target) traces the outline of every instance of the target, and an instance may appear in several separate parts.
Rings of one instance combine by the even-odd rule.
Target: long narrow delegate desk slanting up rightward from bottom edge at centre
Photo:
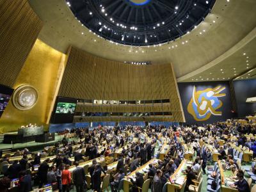
[[[129,186],[132,185],[131,180],[128,177],[132,177],[133,180],[135,180],[135,173],[139,172],[142,174],[145,174],[148,172],[148,164],[157,164],[158,159],[151,159],[148,161],[148,163],[143,164],[139,168],[137,168],[134,172],[130,173],[129,175],[125,176],[124,178],[124,192],[129,192]]]

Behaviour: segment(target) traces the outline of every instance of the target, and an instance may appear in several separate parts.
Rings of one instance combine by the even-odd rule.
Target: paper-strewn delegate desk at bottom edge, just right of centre
[[[193,162],[188,161],[186,159],[184,159],[180,163],[177,170],[175,170],[175,172],[170,177],[170,180],[172,182],[170,182],[170,181],[167,182],[167,191],[168,192],[184,190],[184,188],[186,186],[186,182],[187,182],[187,177],[186,177],[186,174],[184,174],[182,171],[186,170],[187,166],[192,166],[192,165],[193,165]]]

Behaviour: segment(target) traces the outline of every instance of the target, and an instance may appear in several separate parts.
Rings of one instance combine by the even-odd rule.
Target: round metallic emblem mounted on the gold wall
[[[28,110],[36,104],[38,93],[33,86],[22,85],[13,94],[13,105],[20,110]]]

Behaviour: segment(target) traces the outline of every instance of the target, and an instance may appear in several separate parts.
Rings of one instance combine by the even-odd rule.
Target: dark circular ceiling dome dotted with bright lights
[[[189,33],[215,0],[68,0],[75,17],[99,36],[119,44],[163,44]]]

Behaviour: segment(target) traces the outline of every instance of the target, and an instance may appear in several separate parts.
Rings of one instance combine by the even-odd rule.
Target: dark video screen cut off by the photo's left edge
[[[13,89],[7,86],[0,85],[0,117],[4,113],[4,109],[6,108],[11,96],[13,93]]]

